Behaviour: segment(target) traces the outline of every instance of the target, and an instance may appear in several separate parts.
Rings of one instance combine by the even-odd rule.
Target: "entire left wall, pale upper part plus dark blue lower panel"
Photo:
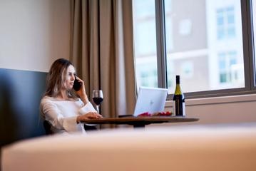
[[[69,58],[69,0],[0,0],[0,149],[44,135],[39,103],[46,72]]]

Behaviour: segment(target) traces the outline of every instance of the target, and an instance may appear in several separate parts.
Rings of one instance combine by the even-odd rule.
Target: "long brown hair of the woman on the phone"
[[[61,88],[66,87],[65,81],[68,76],[68,66],[73,66],[73,63],[64,58],[59,58],[53,62],[46,78],[46,93],[44,95],[56,97]],[[66,90],[68,97],[75,98],[72,91],[69,91],[68,88]]]

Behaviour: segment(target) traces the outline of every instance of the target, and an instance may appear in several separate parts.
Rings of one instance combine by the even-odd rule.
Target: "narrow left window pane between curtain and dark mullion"
[[[133,0],[137,86],[158,87],[155,0]]]

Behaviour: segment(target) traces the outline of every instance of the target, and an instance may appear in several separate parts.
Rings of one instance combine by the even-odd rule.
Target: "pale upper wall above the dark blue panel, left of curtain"
[[[0,68],[47,72],[69,58],[69,0],[1,0]]]

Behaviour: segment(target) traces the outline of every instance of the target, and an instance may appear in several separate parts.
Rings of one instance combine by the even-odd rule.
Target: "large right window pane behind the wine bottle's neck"
[[[193,8],[192,8],[193,7]],[[245,87],[240,0],[165,0],[168,88]]]

